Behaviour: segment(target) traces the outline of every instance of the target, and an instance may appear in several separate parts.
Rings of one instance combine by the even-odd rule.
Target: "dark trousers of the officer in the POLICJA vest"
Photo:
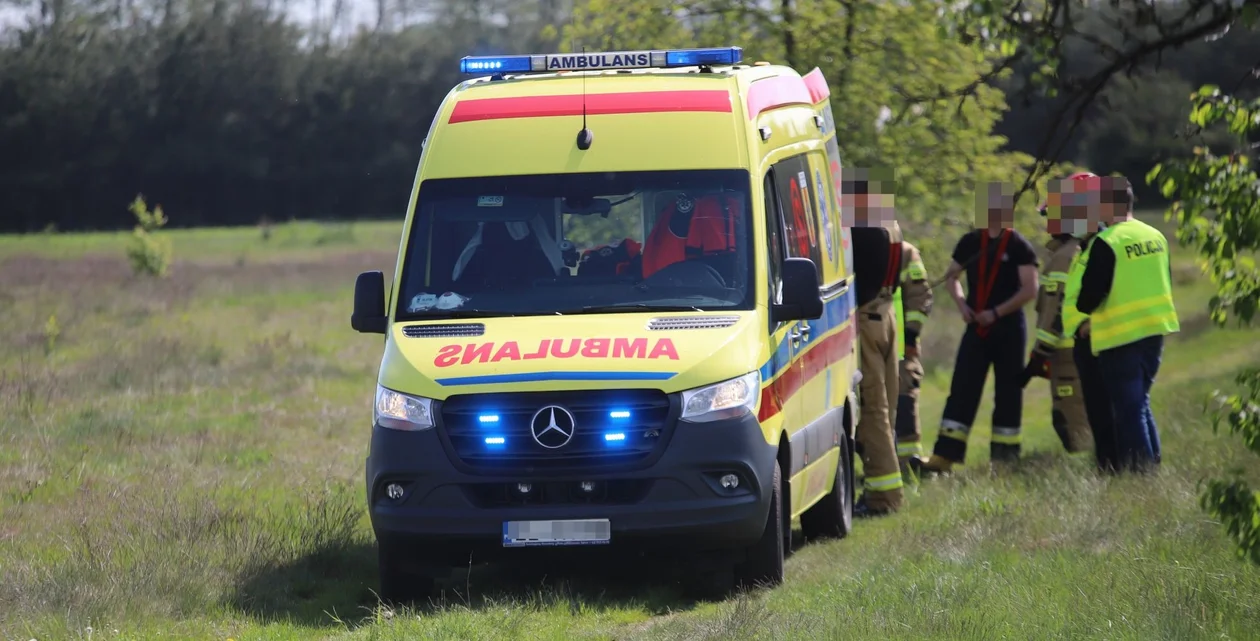
[[[1159,465],[1159,429],[1150,412],[1150,387],[1159,373],[1164,338],[1149,336],[1099,353],[1099,366],[1111,397],[1116,460],[1124,468]]]

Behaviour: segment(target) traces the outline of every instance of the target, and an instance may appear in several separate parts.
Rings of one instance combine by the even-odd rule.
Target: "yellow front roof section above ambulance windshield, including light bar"
[[[723,48],[465,58],[465,73],[491,76],[444,101],[421,178],[748,167],[750,121],[818,96],[795,71],[741,57]],[[743,91],[774,77],[788,82]],[[576,144],[583,121],[587,150]]]

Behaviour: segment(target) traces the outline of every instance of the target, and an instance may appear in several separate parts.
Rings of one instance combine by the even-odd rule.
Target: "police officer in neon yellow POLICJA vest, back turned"
[[[1102,181],[1102,229],[1090,243],[1076,309],[1090,316],[1091,351],[1099,359],[1115,421],[1116,463],[1145,471],[1160,462],[1150,388],[1164,336],[1181,331],[1173,305],[1168,239],[1133,218],[1133,188]]]

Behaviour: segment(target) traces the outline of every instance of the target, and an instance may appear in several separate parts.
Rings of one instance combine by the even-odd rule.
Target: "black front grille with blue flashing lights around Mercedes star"
[[[554,448],[539,445],[530,431],[534,414],[548,406],[573,416],[572,438]],[[441,417],[455,457],[490,474],[634,466],[664,447],[672,423],[669,397],[651,389],[464,394],[442,402]]]

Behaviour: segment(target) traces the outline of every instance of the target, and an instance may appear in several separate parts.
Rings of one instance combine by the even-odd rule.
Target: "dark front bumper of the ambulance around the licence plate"
[[[746,414],[677,424],[659,458],[640,470],[493,475],[461,470],[451,456],[437,428],[373,428],[367,489],[379,540],[466,563],[467,552],[503,550],[504,521],[609,519],[612,548],[742,548],[765,528],[776,448]],[[735,490],[719,482],[727,474],[740,477]],[[583,481],[596,490],[583,492]],[[391,484],[404,489],[397,500],[386,494]],[[534,496],[524,497],[519,484]]]

